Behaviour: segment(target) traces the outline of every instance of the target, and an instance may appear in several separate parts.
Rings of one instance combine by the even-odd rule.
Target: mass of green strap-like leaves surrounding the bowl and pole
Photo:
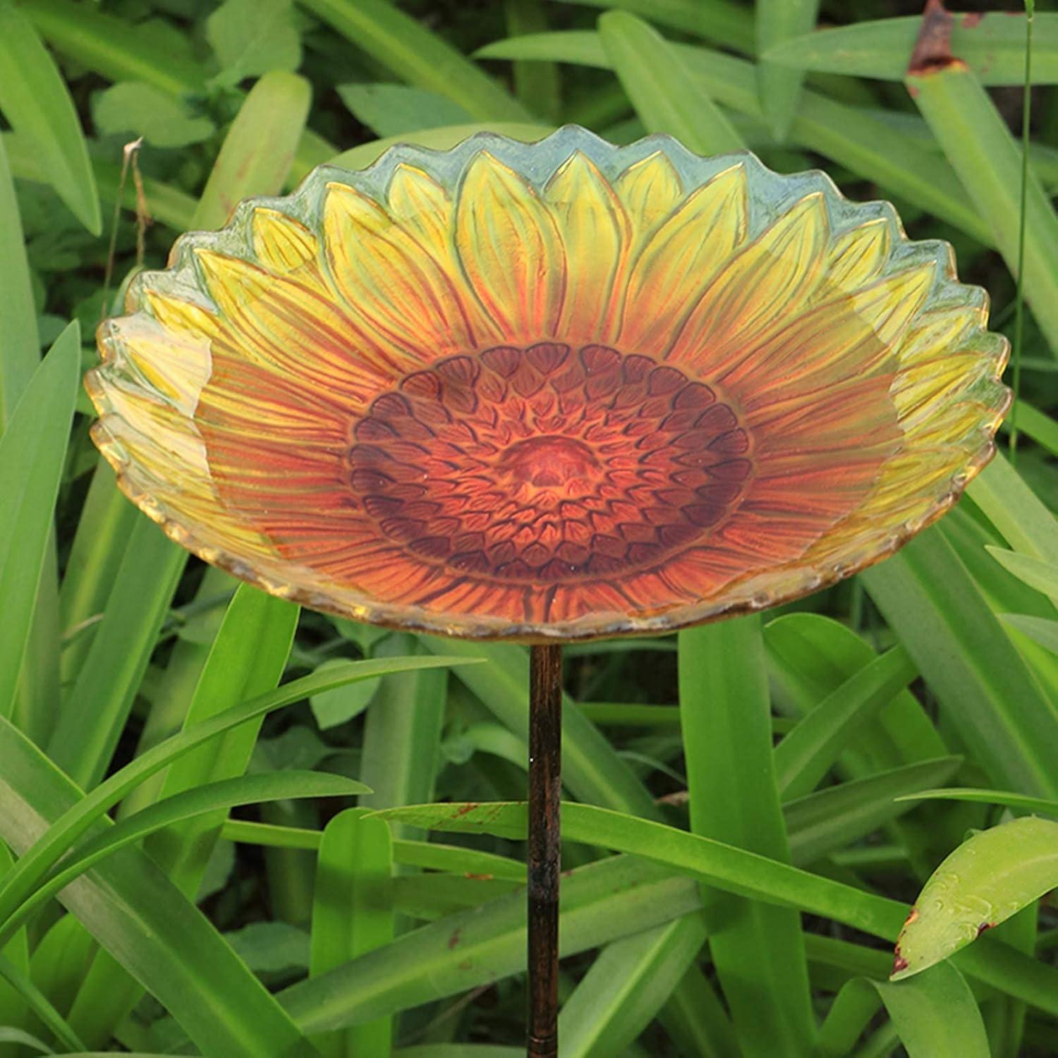
[[[882,0],[0,0],[0,1054],[519,1053],[524,815],[433,832],[523,796],[525,649],[189,560],[117,494],[78,380],[130,272],[240,198],[569,122],[823,167],[949,239],[996,329],[1019,273],[1027,311],[1016,464],[899,554],[763,620],[566,650],[562,1055],[1058,1054],[1058,825],[964,861],[950,908],[1007,920],[886,983],[967,832],[1058,798],[1058,15],[1024,189],[1025,19],[956,16],[964,63],[909,79],[919,25]],[[1037,800],[894,800],[945,785]]]

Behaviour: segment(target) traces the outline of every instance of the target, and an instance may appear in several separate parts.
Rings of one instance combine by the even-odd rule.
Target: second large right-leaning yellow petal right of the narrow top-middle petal
[[[819,281],[827,236],[822,193],[806,195],[727,263],[669,359],[724,373],[768,333],[787,326]]]

